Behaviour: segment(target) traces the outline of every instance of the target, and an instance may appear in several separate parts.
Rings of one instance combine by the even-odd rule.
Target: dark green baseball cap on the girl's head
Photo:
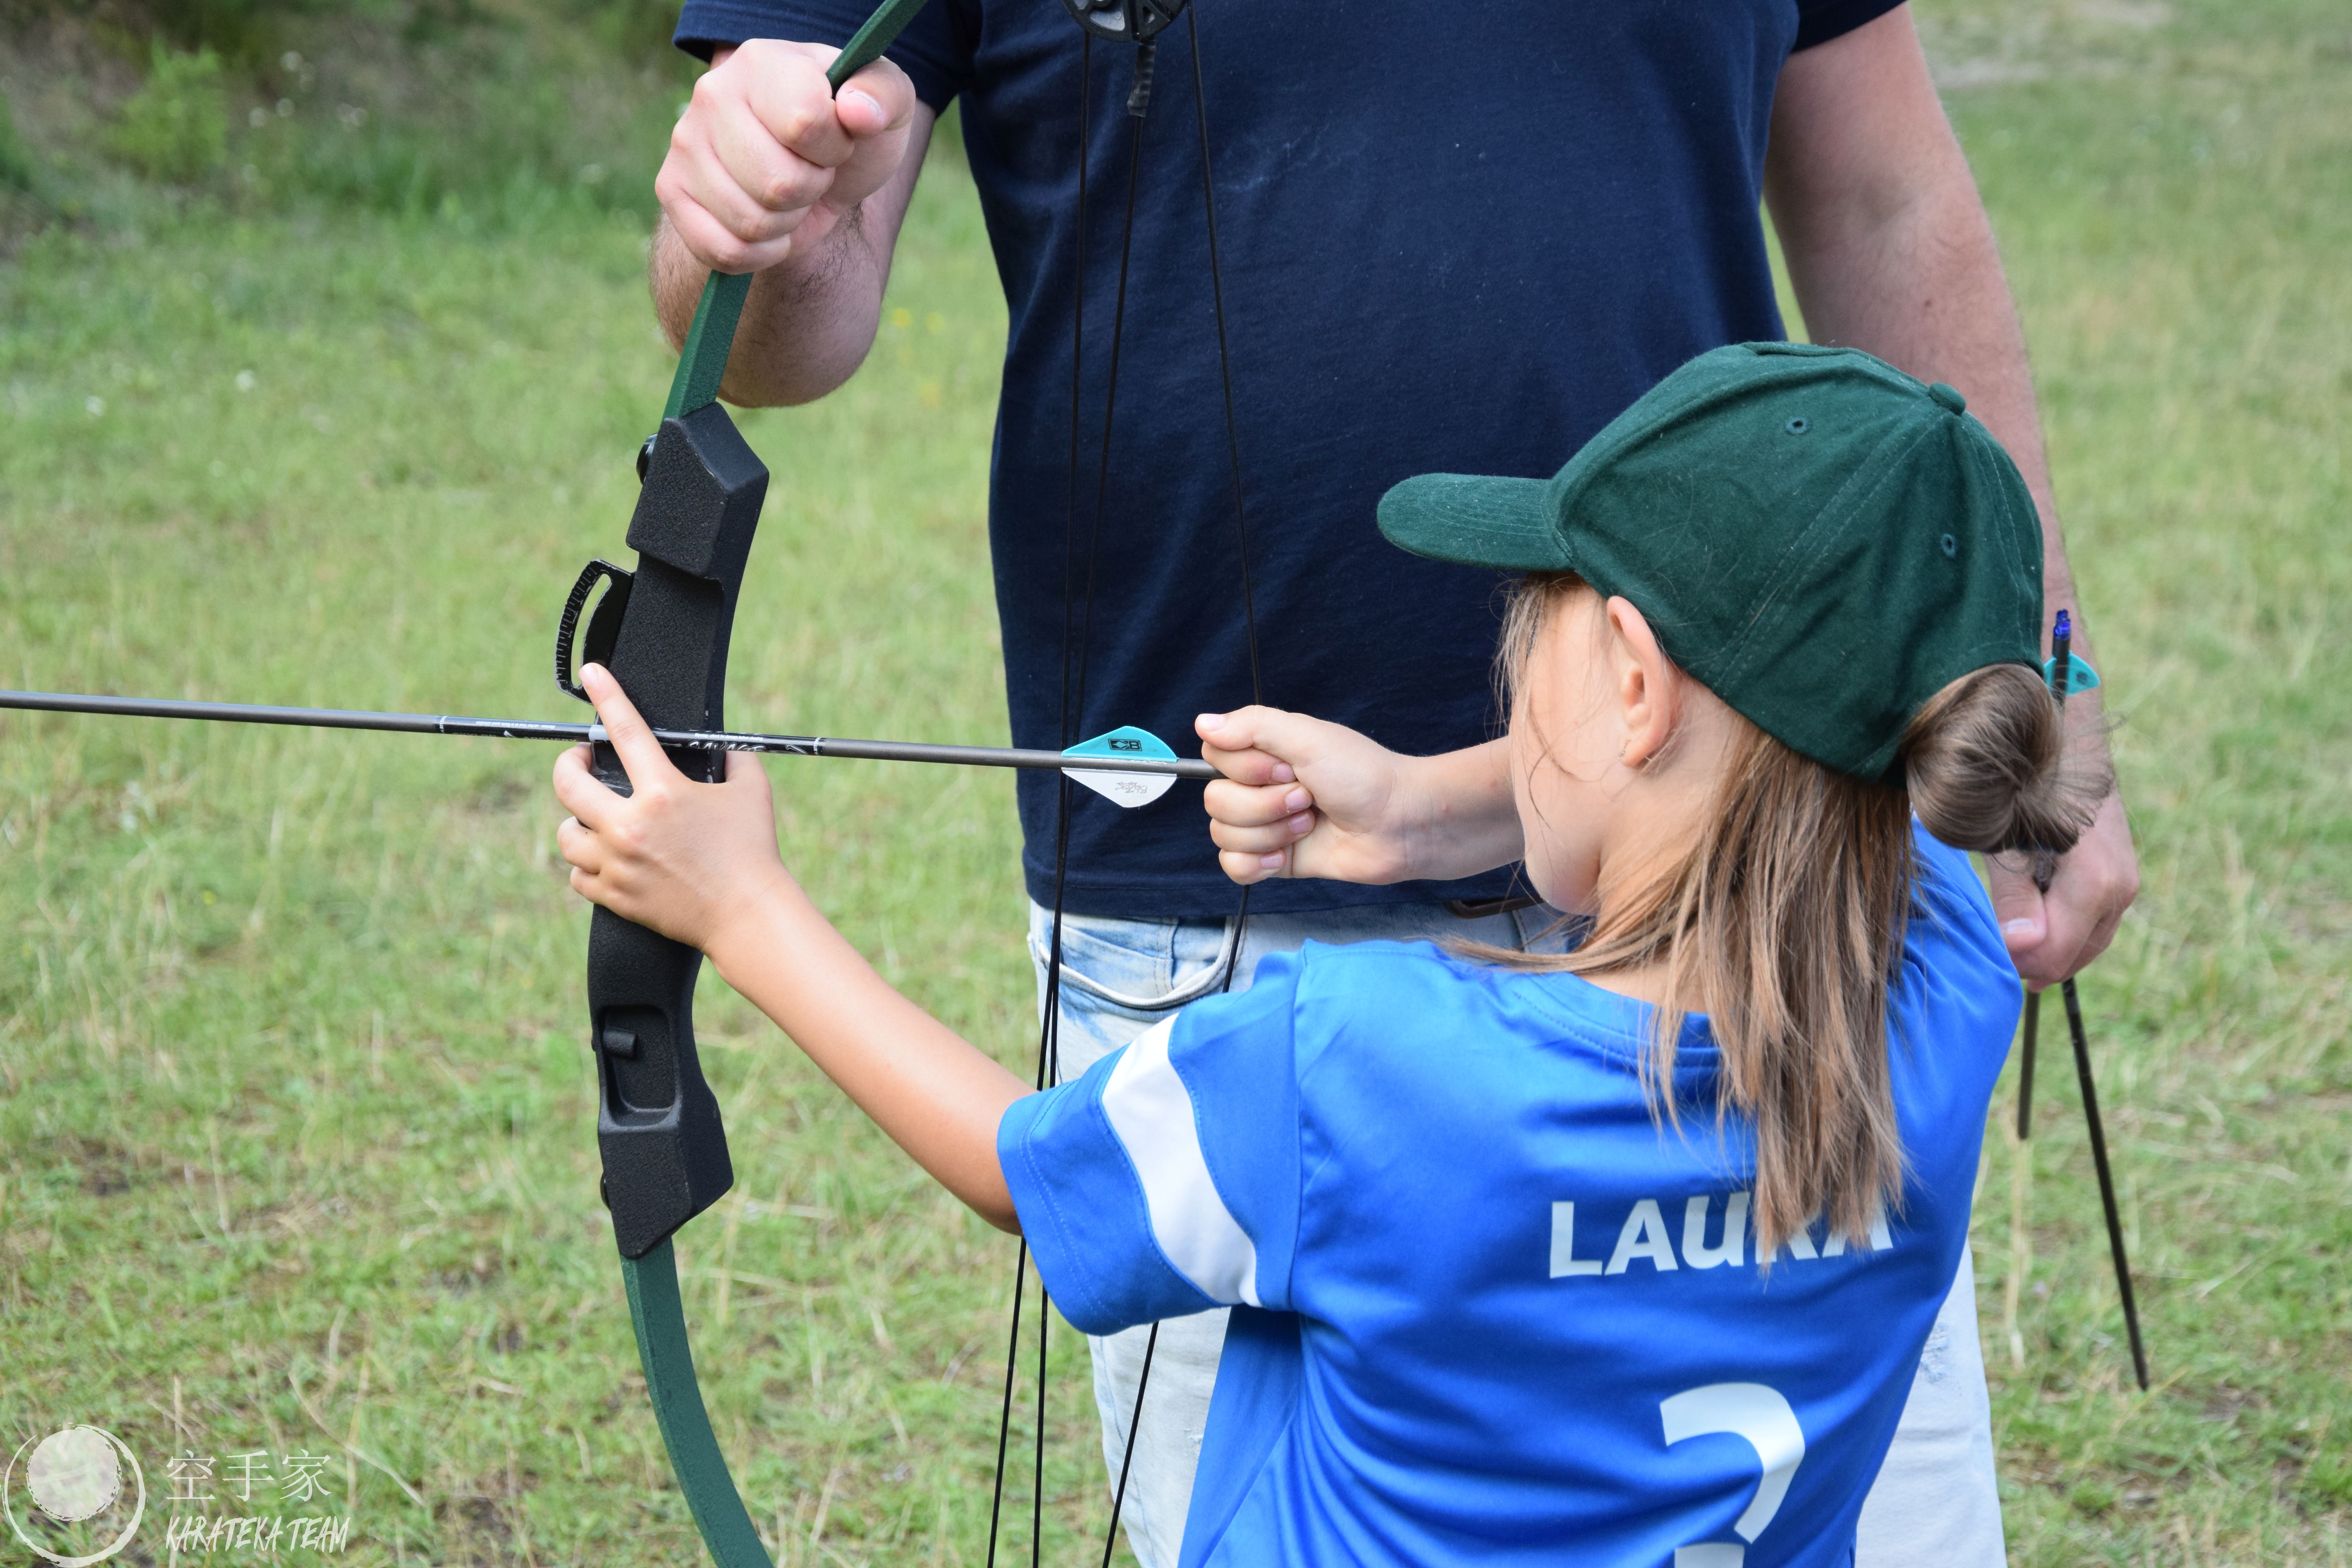
[[[1853,348],[1733,343],[1550,480],[1404,480],[1381,496],[1381,534],[1623,595],[1764,733],[1900,783],[1903,731],[1945,684],[2039,670],[2042,520],[1966,407]]]

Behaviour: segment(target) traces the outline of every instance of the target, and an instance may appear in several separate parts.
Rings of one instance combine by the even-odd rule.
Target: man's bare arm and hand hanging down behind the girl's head
[[[1863,348],[1922,381],[1959,388],[2016,458],[2042,510],[2049,614],[2074,614],[2074,646],[2089,658],[2018,308],[1910,7],[1790,56],[1773,103],[1764,200],[1813,341]],[[2103,762],[2096,696],[2070,701],[2067,717],[2086,762]],[[2049,985],[2096,959],[2138,886],[2117,795],[2100,804],[2046,898],[2027,867],[1994,865],[1994,907],[2018,973]]]

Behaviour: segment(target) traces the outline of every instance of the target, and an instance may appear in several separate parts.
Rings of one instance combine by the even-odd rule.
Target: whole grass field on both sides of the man
[[[2027,315],[2147,875],[2084,1004],[2159,1382],[2129,1385],[2046,1039],[2027,1227],[2004,1091],[1976,1232],[2011,1556],[2345,1563],[2352,19],[1924,24]],[[562,202],[503,228],[191,209],[24,244],[0,263],[0,682],[555,712],[560,595],[619,548],[668,376],[640,244]],[[776,480],[739,726],[1002,738],[1000,346],[943,160],[868,369],[743,418]],[[101,1425],[158,1497],[165,1453],[223,1458],[216,1493],[226,1455],[327,1455],[327,1500],[254,1507],[353,1514],[362,1563],[691,1561],[595,1201],[550,762],[0,719],[9,1448]],[[1007,783],[771,769],[826,907],[1018,1058]],[[1011,1244],[715,983],[701,1025],[741,1182],[680,1260],[755,1516],[788,1563],[978,1563]],[[1044,1549],[1077,1561],[1105,1502],[1058,1347]]]

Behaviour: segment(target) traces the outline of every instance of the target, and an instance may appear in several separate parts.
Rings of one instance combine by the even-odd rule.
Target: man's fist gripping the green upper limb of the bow
[[[760,273],[818,244],[898,172],[915,85],[887,59],[842,82],[840,49],[755,38],[720,49],[670,132],[654,195],[696,261]]]

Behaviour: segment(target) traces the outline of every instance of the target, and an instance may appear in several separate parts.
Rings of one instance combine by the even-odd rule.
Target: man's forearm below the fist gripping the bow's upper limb
[[[931,134],[931,110],[915,113],[906,167],[807,254],[790,254],[753,277],[736,348],[727,360],[724,397],[746,407],[814,402],[866,362],[882,320],[891,249],[906,219],[915,176]],[[670,343],[694,324],[708,268],[687,249],[668,219],[654,230],[647,277],[654,310]]]

